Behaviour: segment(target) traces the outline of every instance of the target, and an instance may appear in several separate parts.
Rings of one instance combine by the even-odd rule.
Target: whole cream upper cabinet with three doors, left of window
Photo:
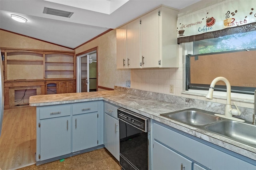
[[[179,67],[177,15],[161,6],[118,28],[117,68]]]

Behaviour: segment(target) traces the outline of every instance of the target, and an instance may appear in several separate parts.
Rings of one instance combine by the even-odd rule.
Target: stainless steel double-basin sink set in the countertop
[[[214,134],[224,136],[236,142],[256,148],[256,126],[249,122],[238,122],[220,118],[214,113],[201,109],[185,109],[160,116],[172,119],[186,125],[201,128]]]

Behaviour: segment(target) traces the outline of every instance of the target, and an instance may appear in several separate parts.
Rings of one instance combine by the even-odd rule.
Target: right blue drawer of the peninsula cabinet
[[[88,101],[72,105],[73,115],[98,111],[98,101]]]

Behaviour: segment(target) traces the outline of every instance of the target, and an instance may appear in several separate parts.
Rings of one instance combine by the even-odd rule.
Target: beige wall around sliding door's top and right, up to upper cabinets
[[[112,30],[89,43],[78,47],[76,54],[98,46],[98,85],[114,88],[114,85],[126,86],[130,80],[130,70],[116,69],[116,30]]]

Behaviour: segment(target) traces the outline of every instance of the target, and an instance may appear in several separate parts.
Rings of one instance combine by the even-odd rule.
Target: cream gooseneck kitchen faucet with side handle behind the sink
[[[218,117],[224,117],[226,119],[232,119],[235,121],[240,121],[240,122],[244,122],[244,120],[242,119],[238,119],[236,117],[232,117],[232,115],[235,116],[240,116],[241,112],[238,109],[238,107],[236,106],[236,103],[234,103],[234,105],[236,106],[236,109],[232,109],[231,107],[231,85],[228,81],[228,79],[226,79],[225,77],[216,77],[209,88],[208,94],[206,95],[207,99],[212,99],[212,95],[213,95],[213,91],[214,91],[214,86],[218,81],[224,81],[224,83],[226,84],[227,87],[227,104],[226,104],[226,108],[225,108],[225,115],[221,115],[221,114],[214,114]]]

